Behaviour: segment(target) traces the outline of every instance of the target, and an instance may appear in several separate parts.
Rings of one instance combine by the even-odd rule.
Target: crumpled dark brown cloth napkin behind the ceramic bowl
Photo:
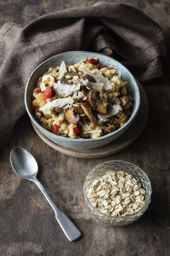
[[[25,113],[24,90],[33,69],[53,55],[78,50],[122,62],[139,81],[163,75],[163,31],[135,7],[98,2],[43,15],[24,28],[7,22],[0,30],[0,149]]]

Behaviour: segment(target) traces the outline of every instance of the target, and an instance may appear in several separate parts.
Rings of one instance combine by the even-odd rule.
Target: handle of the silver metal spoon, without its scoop
[[[32,180],[33,182],[36,183],[36,185],[39,187],[41,192],[44,194],[46,197],[48,203],[52,206],[54,212],[55,212],[55,217],[60,224],[61,228],[64,231],[64,234],[66,237],[71,241],[75,242],[81,237],[81,233],[77,227],[73,224],[73,222],[67,217],[67,215],[62,212],[53,202],[52,198],[48,195],[47,191],[45,188],[41,185],[41,183],[36,179]]]

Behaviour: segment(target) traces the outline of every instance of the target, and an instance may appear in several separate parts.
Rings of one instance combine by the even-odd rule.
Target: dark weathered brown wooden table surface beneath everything
[[[25,26],[49,12],[90,6],[97,1],[0,0],[0,27],[13,21]],[[111,2],[111,1],[109,1]],[[170,4],[168,0],[115,1],[139,7],[164,30],[169,55]],[[76,158],[49,147],[33,129],[27,114],[16,123],[11,142],[0,154],[0,254],[2,256],[168,256],[170,255],[170,157],[169,157],[169,72],[164,77],[142,82],[149,102],[145,129],[128,147],[100,158]],[[54,212],[35,183],[20,179],[10,163],[13,147],[23,147],[37,160],[38,179],[81,230],[71,243],[61,231]],[[97,164],[120,159],[137,164],[151,181],[152,197],[142,217],[125,227],[101,223],[90,214],[83,198],[83,182]]]

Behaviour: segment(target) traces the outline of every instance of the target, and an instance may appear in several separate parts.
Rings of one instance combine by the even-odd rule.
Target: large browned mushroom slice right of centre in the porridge
[[[90,90],[88,100],[90,105],[101,114],[107,114],[107,92]]]

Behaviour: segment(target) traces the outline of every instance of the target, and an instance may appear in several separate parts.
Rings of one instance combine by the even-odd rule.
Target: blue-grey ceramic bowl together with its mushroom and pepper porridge
[[[135,78],[120,62],[92,52],[66,52],[29,77],[25,107],[36,128],[57,145],[97,148],[132,124],[140,107]]]

